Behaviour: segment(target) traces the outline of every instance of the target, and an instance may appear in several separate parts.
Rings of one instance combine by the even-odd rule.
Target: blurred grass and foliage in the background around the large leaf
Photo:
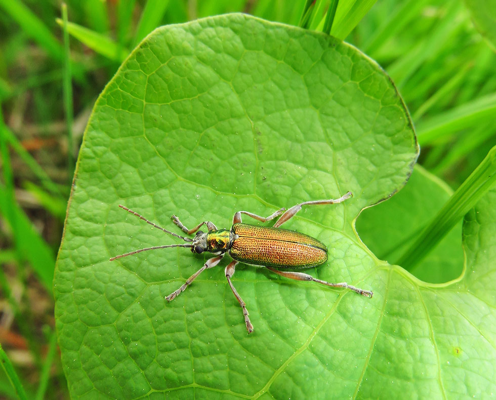
[[[0,355],[12,361],[27,398],[68,397],[54,330],[54,263],[77,149],[121,61],[157,26],[228,12],[325,30],[329,3],[86,0],[64,8],[0,0]],[[456,189],[496,138],[494,44],[467,5],[342,0],[331,32],[386,69],[414,120],[420,164]],[[0,398],[16,398],[4,370]]]

